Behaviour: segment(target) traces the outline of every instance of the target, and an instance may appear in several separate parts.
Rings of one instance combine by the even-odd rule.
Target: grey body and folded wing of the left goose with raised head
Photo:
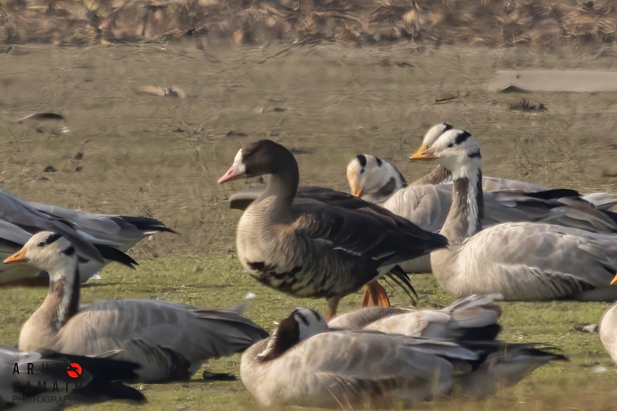
[[[168,363],[174,359],[199,365],[268,335],[236,314],[239,310],[205,310],[159,300],[99,301],[67,322],[53,349],[83,355],[122,349],[123,359],[142,365],[141,380],[166,380]],[[144,350],[147,344],[150,348]],[[158,365],[162,359],[167,360]]]

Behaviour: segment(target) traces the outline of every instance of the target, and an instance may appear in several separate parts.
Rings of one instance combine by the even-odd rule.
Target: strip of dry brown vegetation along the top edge
[[[88,44],[206,35],[554,46],[615,40],[612,0],[1,0],[0,41]]]

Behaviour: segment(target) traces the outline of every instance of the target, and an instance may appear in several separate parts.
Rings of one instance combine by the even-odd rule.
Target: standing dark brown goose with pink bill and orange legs
[[[347,196],[346,206],[313,198],[294,201],[299,182],[296,159],[270,140],[242,147],[218,182],[263,174],[270,174],[267,188],[238,222],[236,251],[242,267],[278,290],[325,297],[328,319],[342,297],[366,283],[367,295],[389,306],[375,280],[399,261],[445,246],[441,235],[388,211],[378,213],[358,198]]]

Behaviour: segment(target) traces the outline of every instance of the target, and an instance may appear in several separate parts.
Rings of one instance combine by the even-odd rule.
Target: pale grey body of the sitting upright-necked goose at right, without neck
[[[578,298],[607,290],[617,271],[615,237],[549,224],[489,227],[444,254],[455,259],[435,256],[434,272],[458,296],[499,291],[510,301]]]

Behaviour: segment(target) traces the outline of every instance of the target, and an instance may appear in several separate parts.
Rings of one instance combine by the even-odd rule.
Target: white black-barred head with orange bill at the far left
[[[54,273],[64,272],[70,266],[76,267],[78,258],[75,247],[62,235],[41,231],[30,237],[22,249],[4,260],[4,264],[25,262],[47,271],[50,279]]]

